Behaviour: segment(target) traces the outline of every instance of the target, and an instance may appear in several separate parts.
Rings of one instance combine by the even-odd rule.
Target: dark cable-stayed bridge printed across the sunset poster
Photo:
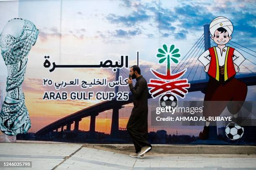
[[[207,87],[208,75],[204,71],[204,66],[197,60],[197,58],[207,50],[208,48],[216,46],[215,43],[210,39],[210,31],[209,25],[204,25],[204,33],[200,36],[200,38],[195,42],[195,44],[190,48],[184,57],[182,57],[181,61],[175,67],[172,66],[172,73],[179,72],[184,68],[187,68],[187,72],[181,78],[187,78],[190,83],[189,92],[201,91],[204,92]],[[256,68],[255,68],[255,59],[256,52],[251,50],[248,47],[238,44],[237,42],[230,41],[228,46],[234,47],[236,50],[241,52],[246,60],[239,66],[239,72],[236,73],[236,78],[246,83],[247,86],[256,85]],[[109,81],[118,80],[119,76],[123,76],[123,78],[128,77],[128,74],[124,70],[118,69],[113,75],[110,77]],[[105,92],[107,91],[128,91],[130,92],[128,86],[116,86],[115,88],[105,88]],[[148,99],[152,98],[151,95],[148,95]],[[38,130],[36,132],[36,137],[38,139],[49,139],[51,136],[51,132],[76,132],[79,130],[79,121],[84,117],[90,116],[90,133],[95,133],[95,120],[96,116],[101,112],[106,110],[113,110],[112,121],[111,121],[111,137],[118,138],[118,130],[119,130],[119,110],[123,107],[123,105],[129,104],[133,102],[133,96],[131,93],[129,94],[129,100],[127,101],[118,101],[116,99],[110,101],[104,101],[97,103],[96,105],[92,105],[90,107],[84,108],[83,110],[79,110],[71,115],[63,117],[44,128]],[[71,125],[74,123],[74,129],[71,130]],[[64,130],[64,127],[66,129]],[[215,128],[216,131],[216,128]]]

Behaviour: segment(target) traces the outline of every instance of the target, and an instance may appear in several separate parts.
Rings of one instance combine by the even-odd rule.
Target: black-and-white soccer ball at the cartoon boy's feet
[[[243,136],[243,127],[234,122],[230,122],[226,126],[225,134],[231,140],[240,139]]]

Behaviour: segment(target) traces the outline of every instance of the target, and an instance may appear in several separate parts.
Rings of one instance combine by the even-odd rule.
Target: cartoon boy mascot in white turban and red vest
[[[228,18],[220,16],[212,20],[210,34],[217,46],[210,47],[198,58],[209,75],[203,108],[206,120],[209,120],[208,117],[220,116],[226,106],[233,117],[238,117],[238,111],[246,99],[246,84],[234,77],[245,58],[234,48],[226,46],[232,38],[232,32],[233,25]],[[210,121],[206,121],[199,134],[201,140],[209,137],[209,125]]]

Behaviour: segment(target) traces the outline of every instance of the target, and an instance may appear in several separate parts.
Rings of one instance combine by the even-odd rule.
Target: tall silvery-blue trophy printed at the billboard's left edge
[[[27,133],[31,127],[21,89],[28,63],[28,52],[36,43],[38,29],[28,20],[14,18],[0,35],[1,54],[7,66],[7,96],[0,113],[0,129],[6,135]]]

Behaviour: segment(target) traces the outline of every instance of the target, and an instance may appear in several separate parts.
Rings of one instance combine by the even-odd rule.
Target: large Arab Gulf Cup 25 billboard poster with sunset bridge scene
[[[137,134],[151,144],[255,145],[251,3],[1,1],[1,132],[71,143],[133,143]]]

